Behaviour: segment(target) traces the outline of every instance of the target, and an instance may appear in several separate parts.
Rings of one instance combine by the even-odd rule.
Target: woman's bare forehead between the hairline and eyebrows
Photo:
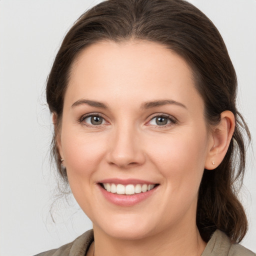
[[[165,45],[138,40],[100,41],[83,49],[72,65],[66,93],[71,101],[167,96],[187,101],[193,94],[199,96],[192,70],[181,56]]]

